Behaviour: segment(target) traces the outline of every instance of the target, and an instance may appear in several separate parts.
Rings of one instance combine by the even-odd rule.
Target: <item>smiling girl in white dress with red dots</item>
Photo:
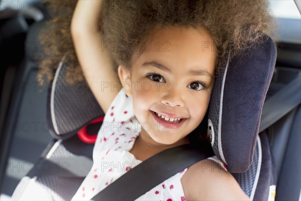
[[[206,115],[214,77],[228,55],[232,59],[268,34],[264,6],[263,1],[77,2],[71,33],[81,68],[76,67],[74,52],[65,52],[75,64],[67,80],[80,80],[82,70],[106,115],[93,150],[93,167],[73,200],[91,199],[163,150],[195,143],[190,133]],[[248,197],[211,157],[137,200]]]

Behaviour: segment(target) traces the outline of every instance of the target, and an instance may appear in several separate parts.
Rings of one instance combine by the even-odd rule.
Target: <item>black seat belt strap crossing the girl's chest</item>
[[[135,200],[181,170],[210,156],[191,145],[167,149],[123,174],[91,200]]]

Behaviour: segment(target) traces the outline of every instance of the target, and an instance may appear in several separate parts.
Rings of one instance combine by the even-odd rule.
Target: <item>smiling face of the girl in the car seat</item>
[[[213,86],[216,52],[204,30],[157,28],[132,68],[119,77],[142,132],[160,144],[174,144],[203,120]],[[164,119],[163,119],[163,118]]]

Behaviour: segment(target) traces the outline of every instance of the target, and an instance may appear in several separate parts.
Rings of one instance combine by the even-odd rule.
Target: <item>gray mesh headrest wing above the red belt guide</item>
[[[88,122],[104,115],[86,81],[65,81],[67,63],[61,62],[48,93],[47,119],[51,122],[51,135],[67,139]]]

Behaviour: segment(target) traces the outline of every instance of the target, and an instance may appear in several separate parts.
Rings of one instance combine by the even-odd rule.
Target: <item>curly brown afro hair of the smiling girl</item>
[[[44,81],[44,75],[48,80],[53,79],[55,69],[64,55],[70,63],[66,80],[70,83],[84,80],[70,33],[76,1],[68,2],[70,12],[62,12],[50,20],[50,29],[40,34],[41,40],[52,44],[64,41],[68,47],[67,50],[53,48],[45,52],[47,56],[41,60],[37,76],[40,83]],[[134,49],[149,37],[155,26],[205,29],[215,43],[218,73],[227,55],[230,55],[231,60],[243,50],[262,42],[263,35],[270,34],[272,18],[266,10],[266,3],[263,0],[104,1],[100,27],[104,41],[109,45],[117,42],[120,46],[109,48],[115,61],[115,70],[120,64],[130,67]],[[52,4],[58,4],[58,1],[52,1]]]

